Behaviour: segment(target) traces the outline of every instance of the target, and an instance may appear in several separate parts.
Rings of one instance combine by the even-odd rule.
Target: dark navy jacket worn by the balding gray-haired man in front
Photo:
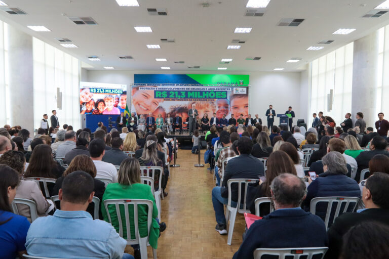
[[[327,244],[326,226],[317,215],[302,209],[278,209],[250,226],[232,258],[252,259],[257,248],[323,247]]]

